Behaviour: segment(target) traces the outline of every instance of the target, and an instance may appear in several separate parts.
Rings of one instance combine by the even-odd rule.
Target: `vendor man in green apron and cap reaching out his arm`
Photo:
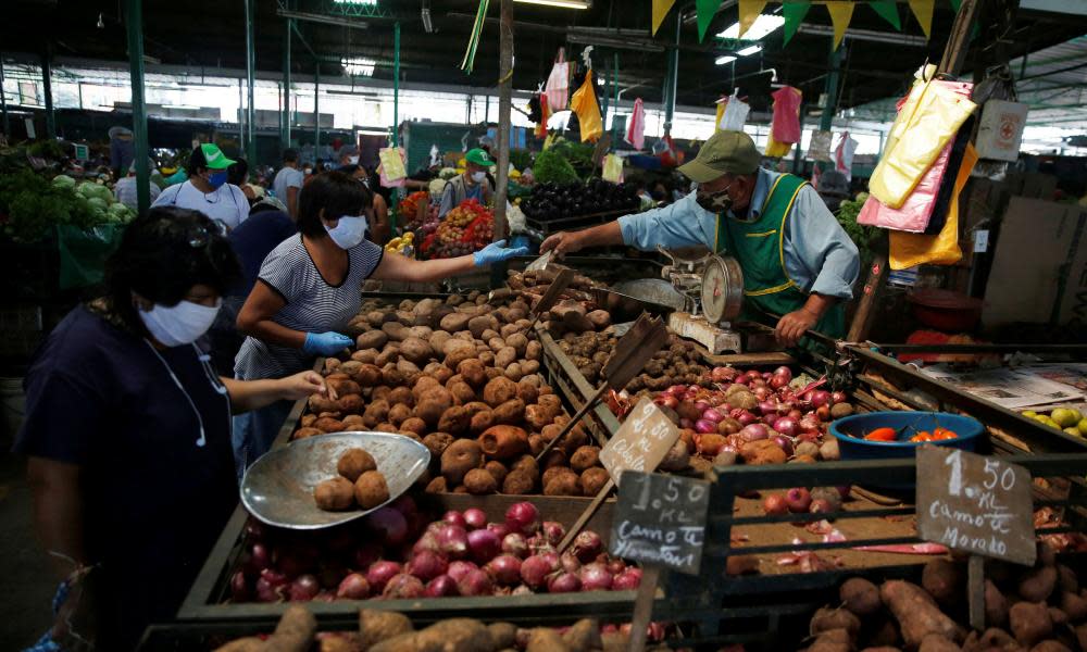
[[[860,256],[819,193],[800,177],[761,168],[742,131],[717,131],[679,167],[698,191],[665,206],[544,240],[541,252],[627,244],[642,250],[703,244],[744,269],[744,318],[782,315],[775,334],[795,346],[804,331],[845,335],[845,301]],[[752,310],[754,309],[754,310]]]

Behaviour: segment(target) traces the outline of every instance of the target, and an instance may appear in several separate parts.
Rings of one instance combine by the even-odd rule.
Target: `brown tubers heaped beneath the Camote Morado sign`
[[[984,631],[961,625],[969,622],[964,562],[928,562],[921,586],[854,577],[839,598],[841,606],[812,618],[808,652],[1087,651],[1087,589],[1045,543],[1034,568],[986,564]]]

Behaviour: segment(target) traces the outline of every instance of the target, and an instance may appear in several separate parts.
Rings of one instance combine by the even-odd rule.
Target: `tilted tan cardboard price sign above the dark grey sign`
[[[600,463],[619,482],[624,471],[654,471],[678,438],[679,430],[672,419],[649,397],[642,397],[619,432],[600,450]]]

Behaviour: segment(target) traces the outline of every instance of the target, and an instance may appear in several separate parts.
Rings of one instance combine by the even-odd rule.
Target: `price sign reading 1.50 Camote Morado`
[[[917,449],[922,539],[1019,564],[1035,561],[1030,473],[959,449]]]

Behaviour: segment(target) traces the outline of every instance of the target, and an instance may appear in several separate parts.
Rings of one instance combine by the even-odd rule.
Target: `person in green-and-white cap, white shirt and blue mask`
[[[241,188],[226,181],[234,161],[205,142],[189,155],[189,180],[162,191],[153,206],[178,206],[200,211],[227,229],[249,217],[249,200]]]

